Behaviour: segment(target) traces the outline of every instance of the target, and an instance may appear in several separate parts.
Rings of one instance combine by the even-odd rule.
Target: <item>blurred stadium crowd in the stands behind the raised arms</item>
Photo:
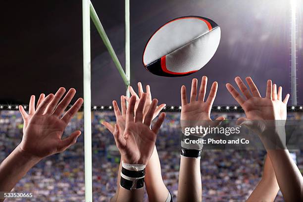
[[[212,118],[219,115],[222,113],[212,113]],[[243,116],[237,112],[223,115],[229,120]],[[303,113],[289,113],[288,119],[303,120]],[[107,202],[115,193],[120,157],[114,139],[101,124],[102,121],[114,123],[114,113],[92,112],[93,198],[94,201]],[[163,181],[174,201],[180,165],[179,126],[180,113],[168,112],[156,142]],[[23,121],[18,111],[0,111],[0,161],[21,142],[22,127]],[[83,131],[83,127],[83,112],[78,112],[63,137],[74,130]],[[203,150],[203,201],[245,201],[261,178],[265,153],[264,150]],[[303,173],[303,151],[292,153]],[[12,192],[32,193],[30,201],[33,202],[84,201],[84,135],[69,150],[38,163]],[[147,201],[147,197],[145,199]],[[278,193],[276,201],[283,201],[281,193]]]

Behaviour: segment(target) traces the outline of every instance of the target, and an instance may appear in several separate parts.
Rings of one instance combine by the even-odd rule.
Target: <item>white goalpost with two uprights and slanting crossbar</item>
[[[125,72],[119,59],[113,50],[101,21],[90,0],[82,0],[83,20],[83,87],[84,87],[84,166],[85,166],[85,201],[93,201],[92,181],[92,118],[91,118],[91,31],[90,18],[94,22],[101,39],[107,48],[115,66],[117,67],[127,90],[130,85],[130,22],[129,22],[129,0],[125,0]],[[111,106],[108,107],[111,109]]]

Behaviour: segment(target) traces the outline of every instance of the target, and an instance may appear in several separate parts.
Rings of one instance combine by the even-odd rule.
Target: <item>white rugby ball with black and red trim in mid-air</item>
[[[143,64],[158,76],[190,75],[212,58],[220,38],[220,27],[208,18],[173,19],[153,33],[143,52]]]

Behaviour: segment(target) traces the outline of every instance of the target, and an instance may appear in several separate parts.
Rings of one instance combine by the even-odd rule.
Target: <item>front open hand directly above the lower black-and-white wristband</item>
[[[129,106],[126,111],[126,125],[124,133],[119,128],[118,124],[115,124],[113,135],[116,145],[121,153],[121,157],[125,163],[144,165],[148,163],[155,145],[156,134],[164,121],[165,113],[161,113],[152,129],[150,129],[152,117],[158,102],[156,99],[152,100],[143,121],[143,111],[146,100],[147,94],[143,93],[138,103],[134,118],[136,96],[131,96],[129,99]]]

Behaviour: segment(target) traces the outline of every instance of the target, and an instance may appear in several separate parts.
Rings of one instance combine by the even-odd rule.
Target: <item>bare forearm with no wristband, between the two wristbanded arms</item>
[[[162,180],[161,166],[156,147],[154,147],[150,161],[146,166],[145,186],[150,202],[165,202],[168,190]]]

